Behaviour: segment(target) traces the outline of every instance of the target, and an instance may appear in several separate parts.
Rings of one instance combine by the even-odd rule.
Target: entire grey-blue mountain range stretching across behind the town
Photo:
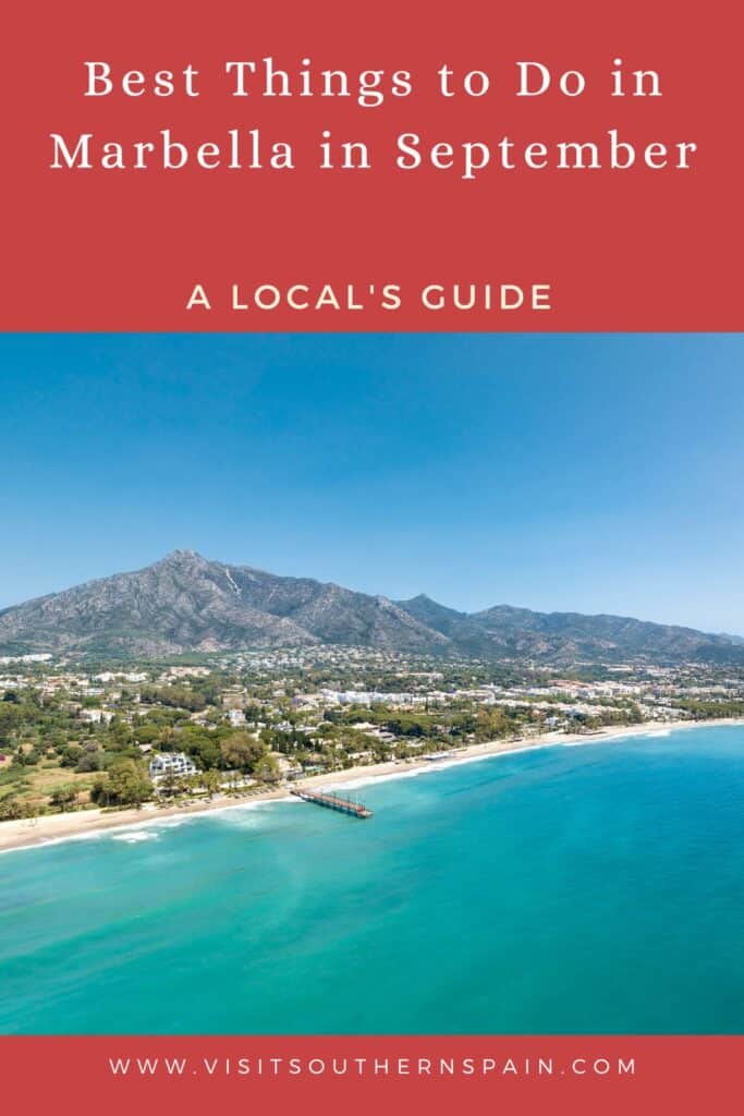
[[[164,656],[336,644],[489,660],[744,663],[733,637],[621,616],[496,605],[461,613],[424,595],[394,602],[311,578],[174,550],[131,574],[0,612],[0,654]]]

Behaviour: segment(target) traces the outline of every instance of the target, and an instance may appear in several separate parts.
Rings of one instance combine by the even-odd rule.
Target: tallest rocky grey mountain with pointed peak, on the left
[[[0,612],[0,654],[151,656],[317,643],[446,646],[386,597],[207,561],[192,550]]]

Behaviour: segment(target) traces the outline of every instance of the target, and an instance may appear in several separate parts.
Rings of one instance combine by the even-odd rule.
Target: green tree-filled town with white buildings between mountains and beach
[[[744,668],[549,670],[316,646],[0,658],[0,819],[250,797],[502,741],[744,716]]]

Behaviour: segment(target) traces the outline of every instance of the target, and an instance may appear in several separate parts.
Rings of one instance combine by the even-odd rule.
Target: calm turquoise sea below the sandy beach
[[[0,856],[2,1033],[741,1032],[744,729]]]

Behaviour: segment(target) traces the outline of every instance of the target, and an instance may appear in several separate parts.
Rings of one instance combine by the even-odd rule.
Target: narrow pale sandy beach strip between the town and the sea
[[[412,772],[441,771],[443,768],[454,767],[460,763],[471,763],[477,760],[491,759],[494,756],[514,754],[540,748],[592,744],[656,733],[666,735],[668,732],[678,729],[721,728],[723,725],[741,727],[743,724],[744,719],[741,718],[717,718],[709,721],[648,721],[644,724],[627,727],[612,725],[598,729],[591,733],[551,732],[543,733],[540,737],[490,741],[483,744],[467,744],[462,749],[447,753],[442,760],[426,760],[423,758],[408,761],[388,760],[384,763],[347,768],[344,771],[328,771],[322,775],[308,776],[306,779],[297,780],[294,786],[301,785],[309,789],[315,787],[345,786],[347,783],[364,786],[368,782],[375,782],[380,778],[395,779],[405,777]],[[141,809],[133,808],[113,812],[100,809],[75,810],[68,814],[45,814],[33,820],[23,818],[12,821],[1,821],[0,854],[27,848],[44,848],[49,845],[60,844],[61,841],[94,837],[112,829],[141,828],[168,818],[199,817],[222,810],[239,809],[241,807],[244,809],[248,806],[259,802],[286,800],[289,798],[289,787],[283,786],[276,790],[262,790],[259,793],[243,795],[236,798],[222,795],[215,796],[210,800],[172,806],[145,804]]]

